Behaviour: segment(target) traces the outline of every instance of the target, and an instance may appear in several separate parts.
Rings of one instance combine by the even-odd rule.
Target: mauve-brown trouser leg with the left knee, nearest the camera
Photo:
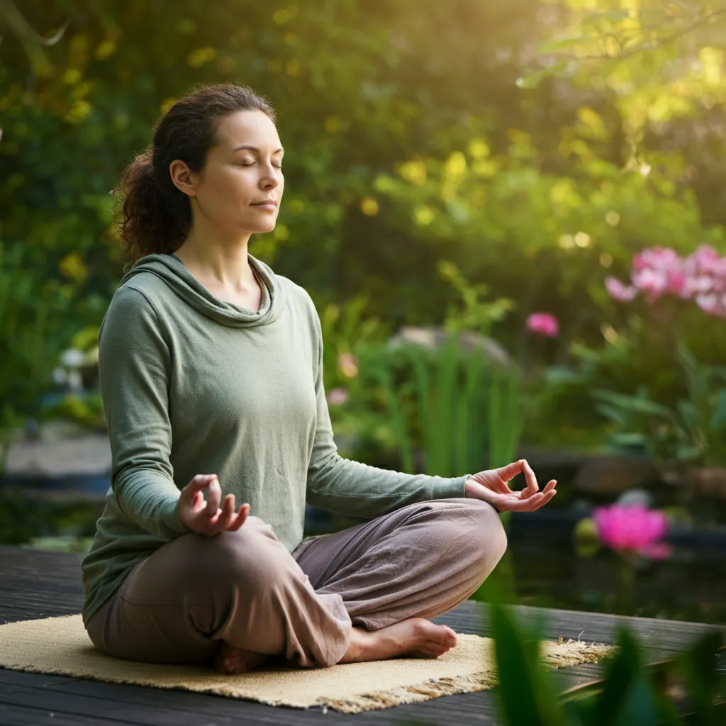
[[[348,649],[350,628],[342,597],[318,595],[272,526],[249,517],[236,532],[184,534],[163,544],[87,630],[99,649],[134,661],[209,661],[224,641],[329,666]]]

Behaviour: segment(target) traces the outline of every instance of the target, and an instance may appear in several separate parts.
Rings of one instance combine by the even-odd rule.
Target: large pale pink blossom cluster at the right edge
[[[709,315],[726,317],[726,257],[709,245],[701,245],[688,257],[667,247],[650,247],[632,260],[631,285],[608,277],[605,287],[611,298],[630,301],[637,293],[653,303],[661,295],[693,300]]]

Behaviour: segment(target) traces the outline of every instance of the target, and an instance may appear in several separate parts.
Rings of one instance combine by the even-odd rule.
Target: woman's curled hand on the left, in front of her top
[[[207,500],[204,500],[202,489],[209,488]],[[221,531],[237,531],[245,523],[250,514],[250,505],[240,505],[240,511],[234,513],[234,494],[224,497],[224,504],[219,507],[221,487],[216,474],[197,474],[192,481],[181,490],[176,505],[179,519],[197,534],[212,537]]]

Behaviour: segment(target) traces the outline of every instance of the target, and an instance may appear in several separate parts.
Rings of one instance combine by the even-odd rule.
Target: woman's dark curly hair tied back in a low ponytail
[[[157,121],[151,144],[123,170],[121,187],[112,192],[122,201],[116,225],[131,263],[152,253],[174,252],[189,233],[192,208],[171,181],[171,162],[181,159],[192,171],[201,171],[208,150],[219,142],[221,120],[253,110],[277,121],[269,102],[249,86],[219,83],[195,86]]]

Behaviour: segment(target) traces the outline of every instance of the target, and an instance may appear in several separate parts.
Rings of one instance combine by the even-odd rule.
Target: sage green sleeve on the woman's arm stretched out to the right
[[[312,301],[310,301],[313,306]],[[313,306],[317,328],[315,396],[317,427],[308,468],[307,502],[320,509],[359,517],[377,517],[428,499],[465,497],[468,476],[444,478],[380,469],[338,454],[322,380],[322,328]]]

